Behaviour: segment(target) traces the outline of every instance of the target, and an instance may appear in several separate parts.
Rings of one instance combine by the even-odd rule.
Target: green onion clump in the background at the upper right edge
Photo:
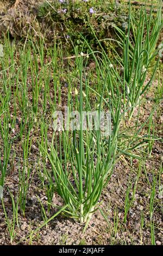
[[[161,58],[160,47],[157,47],[160,32],[163,28],[162,1],[158,1],[158,11],[153,17],[153,7],[148,14],[145,7],[140,11],[140,21],[137,23],[131,14],[127,34],[115,26],[118,32],[118,45],[122,47],[123,58],[118,56],[123,69],[124,107],[129,111],[131,119],[134,109],[145,97]],[[148,82],[147,76],[149,77]]]

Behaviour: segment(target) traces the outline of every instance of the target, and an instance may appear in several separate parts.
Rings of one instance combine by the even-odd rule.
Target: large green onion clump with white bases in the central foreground
[[[97,61],[97,59],[96,59]],[[108,90],[109,72],[99,66],[101,79],[98,79],[96,102],[91,99],[91,88],[83,82],[83,57],[78,60],[79,88],[74,95],[70,92],[70,109],[78,111],[80,121],[78,129],[71,131],[54,131],[50,153],[47,147],[44,152],[52,166],[57,184],[57,192],[67,208],[65,214],[81,224],[89,223],[91,215],[98,208],[103,188],[108,184],[117,157],[117,137],[120,126],[121,95],[117,97],[116,107],[112,104]],[[96,110],[97,119],[93,129],[83,129],[83,112]],[[109,111],[111,118],[109,133],[95,129],[101,122],[102,111]],[[88,117],[87,124],[90,124]]]

